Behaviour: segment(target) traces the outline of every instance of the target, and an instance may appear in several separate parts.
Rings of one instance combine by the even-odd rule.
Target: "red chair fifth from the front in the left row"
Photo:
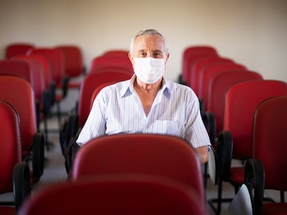
[[[62,117],[60,102],[62,102],[67,95],[67,86],[69,83],[69,77],[65,75],[64,72],[64,56],[62,52],[56,48],[33,48],[28,50],[26,54],[42,55],[46,57],[50,64],[51,77],[53,82],[55,82],[55,88],[53,89],[53,95],[55,95],[55,97],[53,97],[51,103],[57,106],[58,124],[60,127]],[[62,93],[56,93],[57,88],[61,88]]]

